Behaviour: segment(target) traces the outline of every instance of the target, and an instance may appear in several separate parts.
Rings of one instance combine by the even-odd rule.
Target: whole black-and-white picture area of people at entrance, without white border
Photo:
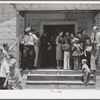
[[[34,89],[100,89],[100,2],[0,3],[0,90]]]

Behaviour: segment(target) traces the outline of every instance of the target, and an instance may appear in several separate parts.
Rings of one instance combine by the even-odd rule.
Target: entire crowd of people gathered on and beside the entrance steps
[[[61,31],[58,36],[52,36],[48,41],[46,33],[39,39],[35,31],[28,27],[20,38],[21,68],[36,69],[39,51],[42,66],[45,67],[49,53],[51,65],[56,63],[57,69],[82,70],[84,82],[87,83],[90,71],[95,72],[97,67],[100,50],[98,30],[98,27],[94,26],[91,37],[83,30],[77,34],[69,32],[64,34]],[[11,47],[8,43],[3,43],[3,49],[0,49],[0,89],[14,89],[14,87],[22,89],[22,78],[16,58],[9,54],[17,43],[18,41]]]

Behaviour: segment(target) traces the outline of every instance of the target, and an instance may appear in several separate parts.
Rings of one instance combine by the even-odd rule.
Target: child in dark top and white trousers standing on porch
[[[65,41],[63,50],[64,50],[64,69],[70,70],[70,45],[67,40]]]

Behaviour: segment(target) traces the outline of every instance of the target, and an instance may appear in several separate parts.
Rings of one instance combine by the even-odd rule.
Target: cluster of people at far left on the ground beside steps
[[[22,89],[22,77],[17,65],[17,60],[13,54],[9,52],[18,43],[9,47],[8,43],[3,43],[0,48],[0,89]]]

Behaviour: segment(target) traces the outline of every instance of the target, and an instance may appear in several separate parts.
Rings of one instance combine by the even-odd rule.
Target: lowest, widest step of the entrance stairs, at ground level
[[[26,81],[29,89],[93,89],[95,82],[90,81],[87,86],[81,81]]]

